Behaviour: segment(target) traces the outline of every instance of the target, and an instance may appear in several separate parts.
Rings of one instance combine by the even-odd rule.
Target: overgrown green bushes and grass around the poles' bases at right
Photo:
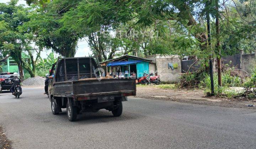
[[[223,66],[225,67],[225,66]],[[255,79],[253,79],[255,77]],[[256,71],[255,76],[252,78],[246,79],[241,72],[235,70],[234,67],[225,67],[222,72],[222,85],[218,85],[218,76],[217,73],[213,75],[214,80],[214,91],[217,96],[225,96],[232,98],[240,95],[241,90],[237,90],[231,87],[245,87],[248,89],[255,86],[254,81],[256,81]],[[255,82],[256,83],[256,82]],[[253,86],[254,85],[254,86]],[[205,70],[198,70],[193,73],[185,73],[180,77],[180,82],[176,84],[177,87],[182,88],[199,88],[203,89],[205,93],[211,92],[211,82],[210,76]]]

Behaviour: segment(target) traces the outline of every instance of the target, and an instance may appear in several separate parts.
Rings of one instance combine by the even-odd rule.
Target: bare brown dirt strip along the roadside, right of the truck
[[[153,100],[177,101],[181,103],[192,103],[199,105],[256,109],[256,106],[247,106],[256,105],[254,101],[245,101],[246,99],[206,97],[204,91],[198,89],[161,89],[156,85],[137,85],[137,93],[135,97]]]

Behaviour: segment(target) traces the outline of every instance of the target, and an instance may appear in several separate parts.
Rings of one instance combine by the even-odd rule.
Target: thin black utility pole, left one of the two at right
[[[209,14],[209,5],[210,0],[206,2],[206,20],[207,20],[207,36],[208,36],[208,48],[210,48],[210,14]],[[212,54],[210,55],[209,59],[209,73],[210,73],[210,81],[211,81],[211,91],[214,94],[214,82],[213,82],[213,66],[212,66]]]

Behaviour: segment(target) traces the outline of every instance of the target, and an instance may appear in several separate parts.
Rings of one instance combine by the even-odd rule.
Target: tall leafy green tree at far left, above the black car
[[[28,9],[23,5],[17,6],[18,0],[11,0],[7,4],[0,3],[0,49],[3,55],[10,55],[18,64],[20,77],[23,79],[21,53],[28,46],[27,34],[19,32],[18,27],[29,21]]]

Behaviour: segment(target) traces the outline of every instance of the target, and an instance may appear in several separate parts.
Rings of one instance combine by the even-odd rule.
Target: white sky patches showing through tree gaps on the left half
[[[10,0],[0,0],[0,2],[4,2],[4,3],[9,2],[9,1]],[[19,0],[18,1],[18,5],[19,4],[27,5],[25,0]],[[34,47],[34,48],[36,48],[36,47]],[[46,58],[47,55],[49,53],[51,53],[51,52],[52,52],[51,50],[42,51],[41,52],[41,57],[42,58]],[[78,42],[78,49],[76,50],[75,57],[89,56],[89,54],[92,54],[92,53],[90,51],[90,48],[89,48],[87,42],[85,40],[79,40],[79,42]],[[36,53],[34,54],[34,57],[36,57]]]

